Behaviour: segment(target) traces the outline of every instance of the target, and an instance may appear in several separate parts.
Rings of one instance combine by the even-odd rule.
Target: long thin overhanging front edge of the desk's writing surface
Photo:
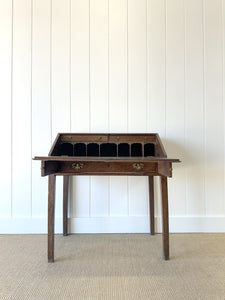
[[[87,156],[35,156],[33,160],[42,160],[42,161],[94,161],[94,162],[129,162],[129,161],[141,161],[141,162],[173,162],[180,163],[181,161],[177,158],[166,158],[166,157],[87,157]]]

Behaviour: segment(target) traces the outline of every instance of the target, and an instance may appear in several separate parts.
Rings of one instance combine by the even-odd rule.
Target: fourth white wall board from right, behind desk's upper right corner
[[[165,1],[147,2],[147,66],[148,66],[148,114],[147,131],[159,133],[165,138]],[[155,213],[161,215],[160,186],[158,178],[155,184]]]

